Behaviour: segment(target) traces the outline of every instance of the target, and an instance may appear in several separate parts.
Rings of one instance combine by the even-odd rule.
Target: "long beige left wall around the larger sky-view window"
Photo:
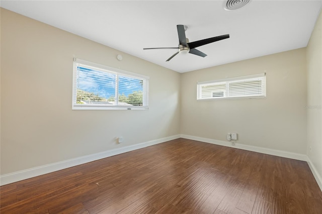
[[[149,110],[72,111],[73,55],[149,76]],[[1,62],[2,175],[180,134],[177,72],[5,9]]]

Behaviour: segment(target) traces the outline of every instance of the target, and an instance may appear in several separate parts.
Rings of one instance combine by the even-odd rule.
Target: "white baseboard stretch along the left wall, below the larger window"
[[[177,138],[180,138],[180,135],[174,135],[174,136],[170,136],[170,137],[166,137],[166,138],[160,138],[157,140],[152,140],[152,141],[139,143],[139,144],[135,144],[135,145],[131,145],[131,146],[125,146],[125,147],[121,147],[121,148],[117,148],[117,149],[99,152],[99,153],[92,154],[92,155],[86,155],[86,156],[82,156],[79,158],[73,158],[73,159],[69,159],[69,160],[65,160],[65,161],[60,161],[60,162],[56,162],[56,163],[52,163],[52,164],[34,167],[31,169],[26,169],[26,170],[21,170],[18,172],[5,174],[5,175],[0,176],[0,185],[13,183],[13,182],[17,182],[20,180],[25,180],[28,178],[36,177],[39,175],[47,174],[47,173],[58,171],[61,169],[66,169],[69,167],[73,167],[73,166],[77,166],[80,164],[84,164],[84,163],[96,161],[99,159],[111,157],[111,156],[122,154],[125,152],[130,152],[130,151],[133,151],[136,149],[141,149],[141,148],[152,146],[155,144],[175,140]]]

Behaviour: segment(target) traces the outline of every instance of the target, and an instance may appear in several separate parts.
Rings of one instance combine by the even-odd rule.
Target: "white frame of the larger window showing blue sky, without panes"
[[[111,74],[115,74],[116,81],[118,81],[118,76],[125,76],[130,78],[135,78],[143,81],[143,104],[142,105],[119,105],[118,104],[118,82],[116,82],[116,94],[115,94],[115,104],[77,104],[77,67],[78,65],[83,65],[86,68],[91,68],[93,70],[103,71]],[[73,84],[72,84],[72,110],[148,110],[148,94],[149,94],[149,77],[137,73],[132,73],[129,71],[124,71],[121,69],[109,67],[106,65],[97,64],[94,62],[89,62],[86,60],[73,58]]]

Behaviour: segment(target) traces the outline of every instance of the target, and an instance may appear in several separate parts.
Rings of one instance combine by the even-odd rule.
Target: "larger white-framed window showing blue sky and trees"
[[[146,110],[148,77],[80,59],[73,62],[73,110]]]

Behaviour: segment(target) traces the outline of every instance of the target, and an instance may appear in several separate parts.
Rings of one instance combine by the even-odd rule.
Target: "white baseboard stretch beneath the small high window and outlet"
[[[211,144],[216,144],[220,146],[227,146],[235,149],[243,149],[247,151],[252,151],[252,152],[259,152],[259,153],[264,153],[268,155],[275,155],[279,157],[284,157],[284,158],[291,158],[295,160],[301,160],[301,161],[307,161],[308,158],[304,154],[298,154],[298,153],[293,153],[293,152],[286,152],[282,150],[275,150],[275,149],[269,149],[269,148],[264,148],[264,147],[257,147],[257,146],[250,146],[250,145],[244,145],[244,144],[239,144],[235,143],[235,145],[231,145],[231,142],[228,141],[219,141],[219,140],[214,140],[214,139],[209,139],[209,138],[201,138],[201,137],[196,137],[196,136],[190,136],[190,135],[180,135],[181,138],[186,138],[189,140],[195,140],[195,141],[201,141],[205,143],[211,143]]]

